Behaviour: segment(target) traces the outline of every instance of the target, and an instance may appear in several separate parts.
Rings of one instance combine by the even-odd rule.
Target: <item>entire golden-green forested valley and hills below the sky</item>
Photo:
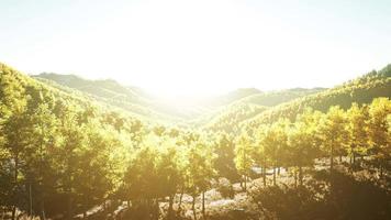
[[[64,77],[0,64],[0,219],[391,218],[391,65],[181,116]]]

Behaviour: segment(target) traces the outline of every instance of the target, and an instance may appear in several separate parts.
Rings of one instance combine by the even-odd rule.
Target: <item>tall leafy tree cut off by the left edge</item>
[[[3,200],[12,207],[15,219],[16,207],[21,204],[20,169],[22,153],[27,146],[24,139],[27,132],[26,98],[24,81],[16,77],[13,69],[0,63],[0,154],[2,169]],[[3,173],[3,170],[9,170]],[[11,178],[10,178],[11,177]]]

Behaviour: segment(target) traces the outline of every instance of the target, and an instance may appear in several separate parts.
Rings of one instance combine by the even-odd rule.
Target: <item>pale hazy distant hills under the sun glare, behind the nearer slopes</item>
[[[265,107],[276,106],[322,90],[298,88],[262,92],[256,88],[241,88],[208,99],[178,100],[172,103],[172,101],[160,100],[141,88],[126,87],[112,79],[89,80],[76,75],[54,73],[43,73],[33,77],[63,90],[82,92],[97,101],[122,108],[142,117],[191,125],[203,125],[210,120],[220,123],[219,121],[224,121],[223,118],[234,116],[236,111],[246,112],[239,117],[241,120],[245,120],[265,110]],[[236,103],[237,101],[241,103]],[[225,113],[225,111],[231,112]],[[220,114],[222,114],[222,119],[214,119]]]

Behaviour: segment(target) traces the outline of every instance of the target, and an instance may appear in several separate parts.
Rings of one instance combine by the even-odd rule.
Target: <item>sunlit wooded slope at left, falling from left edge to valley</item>
[[[69,76],[69,81],[72,79]],[[19,108],[26,103],[32,111],[41,105],[45,105],[48,110],[53,111],[56,117],[59,117],[64,111],[75,111],[80,113],[78,120],[82,120],[81,112],[89,112],[97,118],[102,118],[102,124],[127,124],[129,128],[137,127],[155,127],[159,125],[154,120],[142,118],[129,111],[124,111],[113,106],[98,102],[88,96],[80,92],[75,92],[67,87],[62,87],[51,81],[36,80],[23,73],[18,72],[2,63],[0,63],[0,119],[10,114],[11,109]],[[107,121],[108,120],[108,121]],[[0,120],[1,122],[1,120]],[[116,124],[116,125],[118,125]]]

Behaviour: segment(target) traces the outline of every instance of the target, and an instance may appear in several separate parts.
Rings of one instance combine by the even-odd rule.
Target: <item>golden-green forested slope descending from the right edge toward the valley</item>
[[[377,97],[391,98],[391,64],[335,88],[272,107],[246,121],[245,125],[252,130],[261,123],[275,122],[281,117],[293,120],[308,107],[320,111],[326,111],[332,106],[347,109],[353,102],[369,103]]]

